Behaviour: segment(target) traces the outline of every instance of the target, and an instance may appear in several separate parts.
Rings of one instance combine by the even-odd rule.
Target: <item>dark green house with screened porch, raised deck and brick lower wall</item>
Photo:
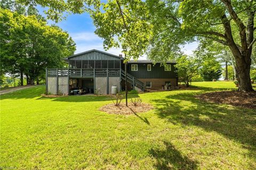
[[[48,94],[94,93],[110,94],[111,87],[117,91],[125,88],[125,65],[122,55],[113,55],[99,50],[90,50],[64,59],[67,68],[46,69],[46,92]],[[178,77],[175,62],[166,66],[150,60],[129,61],[127,63],[127,85],[129,90],[174,88]]]

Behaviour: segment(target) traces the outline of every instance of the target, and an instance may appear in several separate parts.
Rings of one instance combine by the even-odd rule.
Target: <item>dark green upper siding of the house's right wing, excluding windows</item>
[[[132,64],[138,64],[138,71],[131,70]],[[147,71],[148,64],[151,64],[151,71]],[[176,78],[177,75],[174,63],[171,63],[171,71],[164,71],[164,66],[160,66],[160,63],[128,63],[127,72],[136,78]]]

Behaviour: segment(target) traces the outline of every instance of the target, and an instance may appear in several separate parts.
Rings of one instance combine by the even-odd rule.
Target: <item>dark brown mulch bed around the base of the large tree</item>
[[[196,98],[214,103],[256,109],[256,92],[221,91],[196,95]]]

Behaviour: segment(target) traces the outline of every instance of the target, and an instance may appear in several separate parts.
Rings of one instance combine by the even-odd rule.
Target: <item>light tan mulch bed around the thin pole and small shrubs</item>
[[[99,110],[105,111],[108,114],[132,115],[137,114],[138,112],[146,112],[153,108],[154,107],[148,103],[140,103],[138,106],[128,103],[128,107],[126,107],[124,103],[120,104],[119,106],[115,106],[115,104],[112,103],[102,106]]]

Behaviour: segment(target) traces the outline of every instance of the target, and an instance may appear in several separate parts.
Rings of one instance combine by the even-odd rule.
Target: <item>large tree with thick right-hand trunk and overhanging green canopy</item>
[[[20,1],[25,4],[31,3],[28,0]],[[133,44],[131,47],[133,48],[134,44],[137,43],[138,49],[135,50],[135,54],[140,54],[145,50],[145,46],[140,43],[149,41],[151,43],[149,57],[153,60],[155,56],[157,60],[162,58],[163,60],[161,61],[173,58],[174,56],[172,55],[179,51],[180,45],[195,41],[195,38],[198,37],[218,42],[228,46],[234,56],[239,90],[243,92],[253,91],[250,82],[250,67],[252,46],[256,42],[254,38],[255,1],[148,0],[144,3],[140,0],[116,0],[100,3],[100,1],[90,0],[34,0],[32,3],[50,7],[46,13],[55,20],[58,20],[65,11],[74,13],[90,11],[88,9],[92,5],[96,9],[94,10],[95,13],[92,12],[93,20],[96,21],[94,23],[100,28],[105,27],[103,29],[109,30],[104,33],[103,38],[117,37],[118,41],[121,38],[121,41],[126,43],[131,41]],[[111,10],[110,13],[109,10]],[[105,12],[111,14],[108,21],[106,21],[106,15],[100,14]],[[144,17],[145,14],[147,14],[146,17]],[[131,26],[134,26],[127,27],[133,30],[133,34],[129,35],[127,32],[126,26],[130,24],[125,26],[124,22],[116,22],[116,20],[121,21],[120,19],[126,20]],[[120,27],[112,28],[111,26],[113,25],[111,23],[116,23]],[[149,29],[143,29],[147,28],[145,26],[148,26]],[[119,30],[115,30],[117,28],[126,30],[125,34],[119,34]],[[151,28],[153,29],[153,36],[145,36],[149,30],[149,33],[151,33]],[[136,31],[140,32],[136,33]],[[99,34],[97,31],[96,33]],[[122,31],[122,33],[124,32]],[[138,39],[138,35],[142,35],[143,39]],[[111,45],[111,43],[114,43],[113,39],[108,42],[107,38],[105,44]],[[156,52],[157,50],[158,53]]]

